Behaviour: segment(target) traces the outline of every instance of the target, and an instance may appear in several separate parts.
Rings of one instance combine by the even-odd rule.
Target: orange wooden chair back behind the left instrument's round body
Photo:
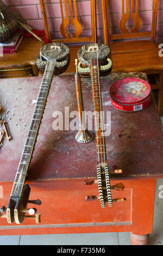
[[[63,36],[63,39],[51,39],[51,33],[49,31],[48,19],[47,19],[47,12],[45,7],[45,1],[40,0],[40,8],[42,12],[43,23],[45,27],[46,37],[50,42],[63,42],[63,43],[75,43],[75,42],[97,42],[97,29],[96,29],[96,0],[91,0],[91,36],[88,37],[80,37],[82,33],[82,25],[78,20],[77,14],[77,4],[76,0],[73,0],[73,7],[72,7],[72,0],[60,0],[60,10],[61,10],[61,25],[60,25],[60,33]],[[69,6],[68,6],[69,5]],[[64,17],[64,8],[65,8],[65,17]],[[70,10],[70,20],[68,9]],[[74,10],[74,14],[73,14]],[[71,36],[67,31],[66,28],[68,25],[71,24],[74,27],[74,33]]]

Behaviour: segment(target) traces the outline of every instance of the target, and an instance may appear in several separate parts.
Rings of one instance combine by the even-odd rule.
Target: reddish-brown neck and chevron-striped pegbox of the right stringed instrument
[[[104,136],[104,123],[102,113],[102,97],[101,85],[99,76],[98,57],[90,59],[90,76],[92,86],[92,101],[93,111],[95,115],[95,134],[96,134],[96,149],[97,149],[97,179],[98,190],[102,208],[105,207],[104,193],[107,193],[108,204],[112,206],[109,168],[106,160],[106,147]]]

